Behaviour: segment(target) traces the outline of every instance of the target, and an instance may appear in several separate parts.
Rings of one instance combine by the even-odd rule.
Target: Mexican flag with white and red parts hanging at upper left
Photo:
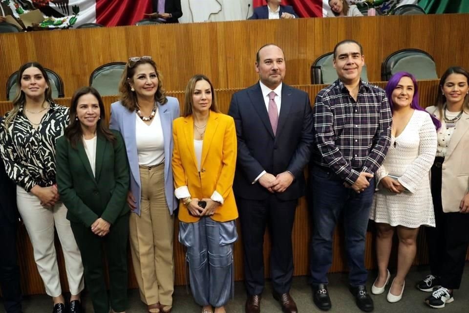
[[[152,5],[151,0],[0,0],[0,10],[17,19],[40,10],[41,27],[67,28],[84,23],[131,25],[151,13]]]

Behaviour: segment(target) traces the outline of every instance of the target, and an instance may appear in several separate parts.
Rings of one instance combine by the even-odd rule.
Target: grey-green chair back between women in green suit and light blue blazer
[[[119,82],[125,62],[111,62],[96,68],[89,76],[89,86],[102,96],[119,94]]]

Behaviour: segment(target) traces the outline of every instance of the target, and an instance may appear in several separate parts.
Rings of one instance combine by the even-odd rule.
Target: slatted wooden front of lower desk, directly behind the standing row
[[[219,27],[219,25],[217,26]],[[419,82],[419,92],[421,98],[421,105],[426,107],[433,103],[433,99],[436,96],[438,90],[437,80],[431,81],[420,81]],[[385,86],[385,82],[374,83],[380,87]],[[316,94],[322,89],[325,85],[302,85],[296,86],[299,89],[302,89],[309,93],[311,103],[314,104],[314,98]],[[218,101],[218,106],[221,112],[226,113],[228,111],[230,100],[235,91],[239,89],[217,89],[216,96]],[[183,91],[169,91],[168,95],[174,96],[179,100],[181,106],[181,112],[184,105],[184,92]],[[112,102],[118,100],[118,96],[106,96],[103,97],[105,103],[107,118],[109,116],[109,107]],[[56,102],[62,105],[69,105],[70,98],[56,99]],[[10,102],[0,102],[0,114],[3,115],[11,108]],[[295,271],[294,275],[308,275],[309,273],[309,240],[310,240],[310,218],[308,212],[308,206],[306,197],[299,199],[298,206],[296,209],[295,225],[292,233],[293,240],[293,254],[294,254],[294,264]],[[185,248],[179,244],[177,240],[178,235],[178,223],[175,219],[174,227],[174,268],[175,268],[175,284],[184,285],[186,284],[186,262],[185,262]],[[238,222],[239,230],[239,222]],[[27,232],[24,226],[20,226],[18,231],[18,253],[19,253],[19,262],[21,268],[21,286],[24,294],[37,294],[44,293],[43,282],[39,273],[37,271],[32,246],[27,236]],[[239,281],[243,279],[243,249],[242,249],[242,234],[238,231],[239,240],[235,243],[235,253],[234,253],[234,262],[235,262],[235,280]],[[270,236],[267,231],[264,237],[264,264],[265,264],[265,275],[270,277],[270,268],[269,268],[269,254],[270,254]],[[366,235],[366,251],[365,251],[365,266],[368,269],[376,268],[375,260],[375,240],[374,240],[374,227],[373,224],[370,224],[369,231]],[[57,255],[58,263],[61,272],[61,283],[64,291],[68,290],[66,283],[66,275],[64,269],[64,260],[59,245],[59,241],[56,240],[57,246]],[[426,247],[426,234],[425,227],[422,227],[417,238],[417,255],[414,261],[414,265],[423,265],[428,263],[427,247]],[[330,272],[343,272],[347,271],[347,262],[344,253],[344,238],[343,230],[341,225],[336,228],[334,231],[334,242],[333,242],[333,262],[330,268]],[[391,257],[391,266],[396,265],[396,251],[393,250]],[[467,256],[469,260],[469,252]],[[135,275],[133,273],[133,267],[130,256],[128,257],[129,272],[128,272],[128,286],[129,288],[137,288],[137,283],[135,280]]]

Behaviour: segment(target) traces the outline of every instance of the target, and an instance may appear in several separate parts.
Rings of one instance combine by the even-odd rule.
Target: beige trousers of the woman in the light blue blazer
[[[141,300],[172,307],[174,217],[165,197],[165,166],[140,167],[140,216],[130,214],[130,250]]]

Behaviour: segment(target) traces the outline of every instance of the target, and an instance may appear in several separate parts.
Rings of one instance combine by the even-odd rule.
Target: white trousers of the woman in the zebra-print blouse
[[[51,297],[62,294],[59,266],[54,246],[54,225],[64,252],[65,269],[71,294],[79,294],[84,288],[83,264],[80,250],[66,219],[67,208],[62,202],[53,208],[45,208],[38,197],[16,188],[18,210],[33,245],[34,260],[44,282],[45,292]]]

